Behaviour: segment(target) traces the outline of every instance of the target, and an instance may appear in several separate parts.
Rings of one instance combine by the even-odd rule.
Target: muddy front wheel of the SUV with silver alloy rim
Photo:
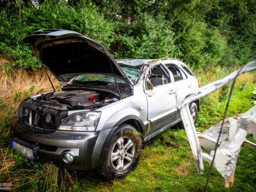
[[[106,180],[123,178],[137,166],[142,148],[141,134],[130,124],[120,125],[103,150],[100,175]]]

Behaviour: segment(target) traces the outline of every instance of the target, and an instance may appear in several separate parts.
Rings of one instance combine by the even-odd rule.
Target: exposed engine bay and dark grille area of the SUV
[[[32,127],[33,131],[56,130],[69,110],[98,109],[118,101],[108,92],[91,90],[60,90],[32,97],[23,103],[20,120]]]

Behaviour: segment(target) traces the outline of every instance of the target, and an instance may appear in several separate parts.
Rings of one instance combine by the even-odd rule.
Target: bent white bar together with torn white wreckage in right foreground
[[[241,69],[234,71],[218,81],[200,87],[195,93],[189,95],[185,100],[183,100],[181,106],[179,106],[181,118],[183,124],[185,125],[185,131],[191,151],[195,158],[198,173],[204,172],[203,158],[209,163],[212,162],[212,154],[214,153],[221,125],[218,124],[213,126],[209,130],[198,134],[199,138],[196,137],[197,132],[195,125],[194,123],[191,123],[193,122],[193,118],[188,108],[189,103],[205,97],[206,95],[233,81],[239,75],[255,69],[256,60],[247,63]],[[253,93],[256,94],[256,89]],[[220,143],[218,143],[219,147],[216,151],[217,154],[214,160],[215,167],[217,167],[217,170],[221,173],[226,181],[230,178],[230,173],[232,173],[230,178],[231,183],[234,181],[235,166],[242,143],[245,141],[247,134],[246,131],[252,133],[254,139],[256,139],[256,107],[241,117],[235,117],[233,119],[225,122],[225,126],[223,127],[222,131],[223,135],[221,135]],[[251,146],[256,146],[255,143],[251,143],[249,141],[245,141],[245,143]],[[210,155],[202,153],[201,146],[206,150],[211,151]]]

